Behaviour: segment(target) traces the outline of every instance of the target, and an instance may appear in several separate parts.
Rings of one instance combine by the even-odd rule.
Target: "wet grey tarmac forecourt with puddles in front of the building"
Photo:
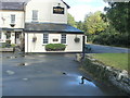
[[[82,73],[75,54],[3,53],[2,76],[3,96],[125,95]]]

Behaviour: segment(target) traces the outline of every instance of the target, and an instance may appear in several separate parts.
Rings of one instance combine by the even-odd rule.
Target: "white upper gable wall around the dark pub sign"
[[[64,14],[53,14],[53,7],[65,9]],[[32,22],[32,10],[38,10],[38,22],[67,24],[67,7],[61,0],[30,0],[26,5],[26,23]]]

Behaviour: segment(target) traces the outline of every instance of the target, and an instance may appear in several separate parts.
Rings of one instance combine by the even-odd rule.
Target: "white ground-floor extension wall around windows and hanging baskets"
[[[32,42],[32,37],[37,37],[37,41]],[[75,42],[74,39],[76,37],[76,34],[67,34],[66,35],[66,49],[65,51],[60,52],[81,52],[82,51],[82,36],[83,35],[77,35],[78,38],[80,38],[79,42]],[[49,34],[49,44],[55,44],[53,42],[53,38],[58,38],[57,44],[61,44],[61,34]],[[43,34],[42,33],[25,33],[25,52],[51,52],[46,51],[46,45],[43,45]],[[53,52],[53,51],[52,51]],[[56,51],[57,52],[57,51]]]

